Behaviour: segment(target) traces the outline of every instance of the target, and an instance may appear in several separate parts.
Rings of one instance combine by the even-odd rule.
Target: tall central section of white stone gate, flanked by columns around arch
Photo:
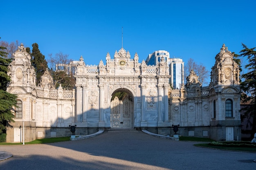
[[[107,53],[106,65],[102,60],[97,66],[85,65],[81,56],[75,75],[78,127],[170,126],[168,121],[170,76],[167,63],[162,58],[159,65],[147,66],[144,61],[139,63],[138,60],[137,53],[134,59],[131,59],[129,51],[126,52],[123,48],[115,52],[114,59],[111,59],[110,54]],[[122,119],[118,119],[119,122],[115,116],[111,116],[110,102],[114,92],[120,91],[118,89],[130,93],[133,97],[130,108],[132,115],[120,110],[121,107],[117,108],[123,115]],[[122,102],[124,104],[125,101]],[[131,118],[124,120],[127,116]],[[126,124],[126,121],[132,123]]]

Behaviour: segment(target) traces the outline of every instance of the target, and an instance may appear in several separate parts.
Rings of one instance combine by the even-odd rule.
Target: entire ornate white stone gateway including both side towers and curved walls
[[[223,44],[215,57],[209,86],[202,87],[191,71],[181,89],[169,85],[169,69],[162,58],[157,66],[130,58],[123,47],[114,58],[106,55],[97,66],[85,65],[81,56],[76,66],[76,88],[56,89],[46,71],[36,86],[31,57],[21,44],[9,66],[9,93],[18,96],[15,123],[7,129],[7,142],[25,142],[44,137],[88,135],[99,129],[146,129],[173,135],[172,125],[180,125],[182,136],[215,140],[240,140],[239,68],[233,54]],[[126,95],[119,99],[117,92]],[[24,129],[23,129],[24,123]]]

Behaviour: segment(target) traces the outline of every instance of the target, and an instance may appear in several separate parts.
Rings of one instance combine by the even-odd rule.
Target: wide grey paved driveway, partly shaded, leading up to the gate
[[[256,170],[256,153],[199,148],[136,130],[78,141],[0,146],[0,170]]]

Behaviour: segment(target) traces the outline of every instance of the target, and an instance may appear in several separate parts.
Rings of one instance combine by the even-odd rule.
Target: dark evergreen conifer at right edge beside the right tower
[[[245,110],[245,116],[250,120],[249,124],[252,126],[251,137],[254,137],[256,132],[256,51],[255,48],[249,49],[242,43],[243,50],[240,51],[240,57],[247,57],[248,64],[245,68],[248,72],[241,75],[243,82],[241,82],[241,90],[244,94],[241,95],[241,99],[248,105],[243,108]]]

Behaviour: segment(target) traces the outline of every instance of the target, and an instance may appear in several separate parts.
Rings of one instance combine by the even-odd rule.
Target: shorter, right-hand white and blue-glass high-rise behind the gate
[[[170,58],[170,83],[173,88],[181,88],[184,84],[184,62],[181,58]]]

